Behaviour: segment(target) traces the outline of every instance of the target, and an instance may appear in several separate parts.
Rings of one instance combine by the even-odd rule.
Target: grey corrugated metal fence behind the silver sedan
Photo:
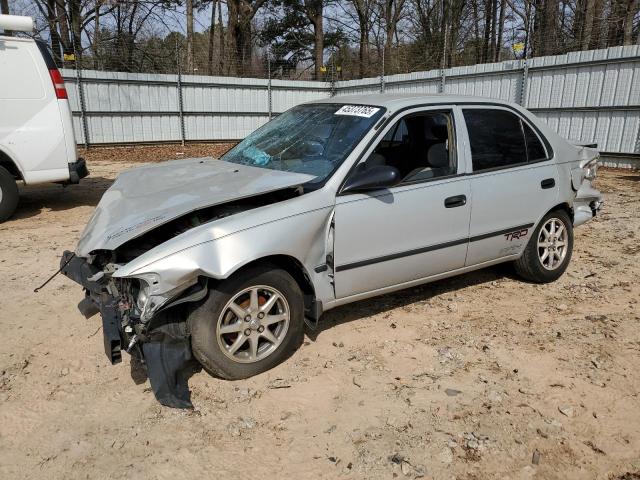
[[[606,152],[640,153],[638,45],[334,84],[79,73],[78,83],[74,70],[63,71],[76,83],[68,90],[79,143],[236,140],[271,115],[331,95],[444,92],[520,103],[566,138],[598,143]]]

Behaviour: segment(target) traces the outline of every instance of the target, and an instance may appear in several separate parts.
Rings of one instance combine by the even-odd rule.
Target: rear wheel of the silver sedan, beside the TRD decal
[[[573,252],[573,224],[567,212],[547,213],[515,261],[518,275],[535,283],[553,282],[569,265]]]

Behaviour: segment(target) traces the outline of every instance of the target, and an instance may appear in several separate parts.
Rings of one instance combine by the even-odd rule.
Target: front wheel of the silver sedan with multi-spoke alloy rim
[[[194,356],[210,374],[238,380],[284,361],[302,343],[300,287],[273,266],[243,270],[216,285],[187,318]]]

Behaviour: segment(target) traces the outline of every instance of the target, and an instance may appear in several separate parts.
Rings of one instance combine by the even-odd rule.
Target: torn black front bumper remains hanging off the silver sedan
[[[174,309],[156,314],[153,326],[141,322],[135,317],[130,299],[109,285],[109,276],[73,252],[62,254],[60,271],[84,288],[85,298],[78,304],[80,312],[86,318],[100,313],[104,350],[109,361],[121,362],[123,350],[136,356],[146,367],[153,393],[161,404],[192,408],[187,374],[194,365],[184,318]],[[199,296],[198,291],[182,300]]]

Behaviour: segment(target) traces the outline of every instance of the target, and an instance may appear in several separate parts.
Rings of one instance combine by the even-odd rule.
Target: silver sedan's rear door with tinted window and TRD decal
[[[466,265],[518,255],[558,202],[551,147],[527,119],[498,106],[462,108],[471,158]]]

